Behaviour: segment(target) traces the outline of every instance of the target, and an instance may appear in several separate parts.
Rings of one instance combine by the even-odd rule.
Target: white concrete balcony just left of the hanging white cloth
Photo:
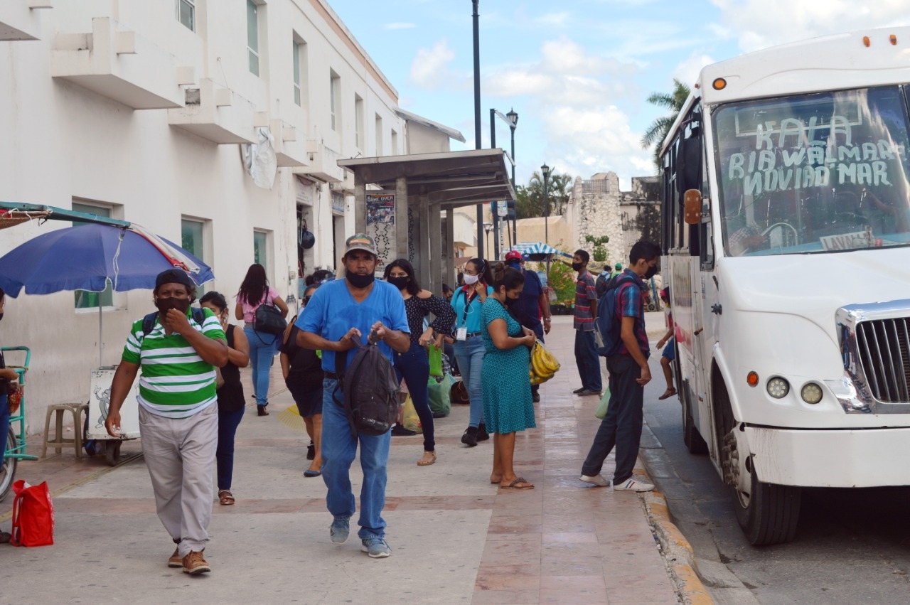
[[[171,126],[218,145],[254,143],[254,126],[269,126],[250,101],[208,78],[185,92],[186,106],[167,110]]]

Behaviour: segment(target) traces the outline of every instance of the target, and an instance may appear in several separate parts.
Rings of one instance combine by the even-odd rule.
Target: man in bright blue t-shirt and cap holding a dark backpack
[[[360,445],[360,468],[363,487],[360,490],[358,532],[360,550],[374,559],[391,554],[385,540],[386,521],[382,509],[386,502],[386,466],[389,462],[390,433],[373,436],[350,434],[348,417],[333,394],[338,386],[335,358],[348,355],[354,348],[351,337],[365,341],[372,332],[379,350],[392,361],[392,351],[410,348],[410,329],[405,314],[404,298],[397,287],[375,281],[378,262],[372,237],[356,234],[345,243],[345,278],[329,281],[319,287],[300,313],[296,326],[298,346],[322,351],[322,479],[329,489],[326,503],[334,520],[329,537],[336,544],[348,539],[349,519],[356,510],[350,487],[350,465]]]

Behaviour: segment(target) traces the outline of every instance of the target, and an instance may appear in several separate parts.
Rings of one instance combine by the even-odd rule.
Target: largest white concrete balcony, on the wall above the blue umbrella
[[[183,106],[180,85],[192,84],[193,72],[110,17],[92,19],[88,34],[57,34],[51,53],[52,77],[134,109]]]

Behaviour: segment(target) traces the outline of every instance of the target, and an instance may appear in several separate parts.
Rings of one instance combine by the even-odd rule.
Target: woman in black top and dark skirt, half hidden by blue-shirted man
[[[301,300],[304,310],[317,287],[319,284],[314,284],[304,291]],[[319,354],[311,348],[298,347],[300,328],[294,325],[296,322],[297,318],[288,322],[281,343],[281,373],[313,442],[313,462],[303,471],[303,476],[319,477],[322,474],[322,379],[325,374]]]

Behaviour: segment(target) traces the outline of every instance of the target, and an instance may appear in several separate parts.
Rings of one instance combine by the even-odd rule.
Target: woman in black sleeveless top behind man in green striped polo
[[[234,495],[230,492],[234,476],[234,436],[246,408],[240,368],[249,364],[249,342],[242,329],[227,323],[227,300],[224,295],[207,292],[199,298],[199,306],[212,309],[227,335],[227,365],[220,368],[224,383],[217,389],[218,447],[215,451],[218,502],[227,506],[234,503]]]

